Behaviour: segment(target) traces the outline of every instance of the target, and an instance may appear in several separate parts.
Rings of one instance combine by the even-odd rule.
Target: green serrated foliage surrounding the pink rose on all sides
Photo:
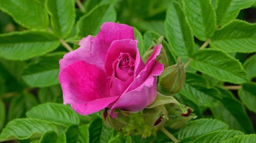
[[[63,105],[59,60],[78,48],[83,37],[97,35],[106,21],[134,27],[144,61],[160,36],[159,62],[165,60],[166,68],[182,58],[184,87],[172,96],[159,93],[145,109],[168,104],[156,117],[165,113],[166,125],[184,126],[165,127],[181,143],[255,142],[256,25],[247,22],[243,10],[253,4],[255,8],[255,0],[0,0],[0,142],[174,141],[160,127],[144,125],[142,111],[123,130],[113,130],[100,119],[102,112],[82,116]]]

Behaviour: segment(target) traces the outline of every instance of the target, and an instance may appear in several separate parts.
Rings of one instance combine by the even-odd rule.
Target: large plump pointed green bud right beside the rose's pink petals
[[[184,86],[186,71],[178,58],[177,64],[164,68],[159,76],[158,91],[165,95],[174,95]]]

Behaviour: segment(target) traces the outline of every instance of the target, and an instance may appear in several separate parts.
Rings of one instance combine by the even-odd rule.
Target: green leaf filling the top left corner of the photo
[[[26,28],[46,28],[49,25],[44,6],[35,0],[0,0],[0,9]]]

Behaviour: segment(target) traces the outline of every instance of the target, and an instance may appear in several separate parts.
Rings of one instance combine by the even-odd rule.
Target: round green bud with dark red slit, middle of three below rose
[[[143,110],[143,120],[147,125],[160,127],[168,120],[167,114],[168,112],[163,105],[145,108]]]

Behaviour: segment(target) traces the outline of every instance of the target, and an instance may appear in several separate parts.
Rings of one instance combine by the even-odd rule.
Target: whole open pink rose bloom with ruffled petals
[[[144,64],[137,43],[132,27],[114,22],[103,23],[95,38],[83,38],[59,61],[64,104],[81,115],[110,108],[116,118],[114,109],[139,111],[154,102],[161,45]]]

